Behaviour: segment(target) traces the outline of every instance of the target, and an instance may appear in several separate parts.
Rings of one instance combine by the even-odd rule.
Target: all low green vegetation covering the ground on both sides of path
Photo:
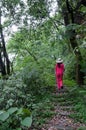
[[[1,80],[0,83],[2,86],[0,90],[0,107],[3,109],[3,111],[0,112],[0,129],[2,130],[17,130],[18,128],[24,128],[26,130],[26,128],[29,127],[29,123],[27,124],[28,120],[30,120],[30,122],[32,120],[32,128],[41,129],[42,125],[55,115],[54,106],[57,105],[57,102],[61,105],[71,103],[71,105],[74,106],[73,111],[75,111],[75,113],[71,114],[70,117],[74,118],[76,122],[86,123],[86,89],[71,87],[71,84],[74,84],[72,81],[68,82],[69,92],[59,99],[59,95],[56,96],[54,94],[54,87],[39,87],[37,85],[34,87],[32,84],[34,88],[33,91],[33,89],[24,84],[23,80],[19,78],[19,75],[11,76],[11,78],[5,82]],[[22,113],[22,108],[25,108],[24,113]],[[8,113],[10,113],[10,115]],[[4,114],[3,118],[2,114]],[[21,121],[22,119],[24,120],[24,118],[27,120],[25,121],[26,126],[23,127]]]

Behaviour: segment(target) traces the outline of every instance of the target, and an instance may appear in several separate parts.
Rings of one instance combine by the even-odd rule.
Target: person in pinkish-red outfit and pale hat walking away
[[[63,89],[63,74],[64,74],[64,64],[61,58],[56,60],[55,65],[55,75],[56,75],[56,84],[58,90]]]

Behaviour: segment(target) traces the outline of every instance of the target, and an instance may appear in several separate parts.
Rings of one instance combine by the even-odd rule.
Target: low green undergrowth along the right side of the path
[[[86,89],[83,87],[73,87],[65,97],[68,101],[74,101],[74,114],[71,114],[75,121],[86,123]]]

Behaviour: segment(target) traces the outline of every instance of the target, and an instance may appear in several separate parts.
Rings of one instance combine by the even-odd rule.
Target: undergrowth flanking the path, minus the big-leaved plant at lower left
[[[30,75],[27,84],[25,84],[25,79],[22,80],[19,75],[18,77],[16,75],[12,76],[7,81],[0,80],[0,109],[7,110],[10,107],[26,108],[32,115],[31,128],[41,129],[42,125],[55,115],[54,108],[57,105],[58,96],[54,93],[55,86],[43,86],[43,81],[41,82],[39,79],[35,82],[35,78],[38,79],[38,75],[36,77]],[[37,86],[39,81],[40,84]],[[73,101],[75,113],[71,114],[70,117],[74,118],[75,121],[86,123],[86,89],[78,86],[71,87],[71,84],[74,85],[72,81],[66,81],[66,83],[69,84],[69,92],[66,96],[62,96],[63,99],[61,98],[61,100]],[[5,121],[4,125],[3,123],[0,125],[0,130],[22,130],[21,126],[18,126],[19,129],[16,128],[12,117],[10,117],[10,120],[12,125],[15,125],[15,129],[9,125],[9,122]],[[26,128],[23,128],[23,130],[26,130]]]

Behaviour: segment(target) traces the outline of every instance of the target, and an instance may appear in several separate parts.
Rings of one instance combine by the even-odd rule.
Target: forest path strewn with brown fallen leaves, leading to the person
[[[75,122],[74,119],[70,117],[74,114],[74,101],[65,100],[67,91],[62,90],[62,92],[55,92],[57,96],[57,104],[55,104],[55,116],[49,120],[41,130],[78,130],[80,127],[85,127],[86,125],[80,122]]]

